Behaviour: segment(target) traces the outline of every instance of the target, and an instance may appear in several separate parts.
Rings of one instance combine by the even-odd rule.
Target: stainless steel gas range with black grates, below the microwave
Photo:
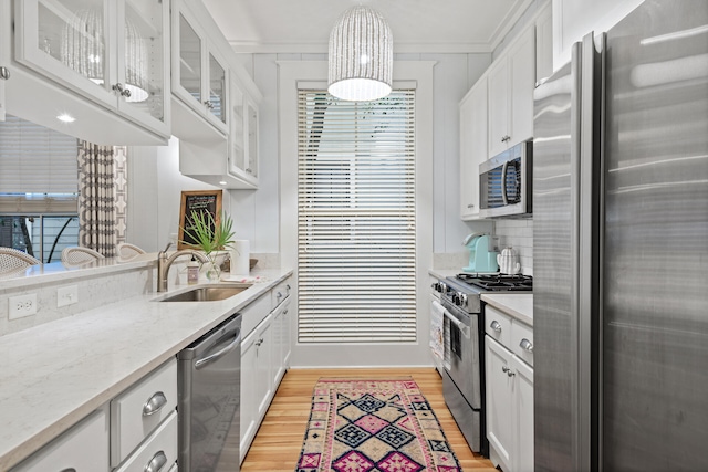
[[[485,314],[481,294],[533,289],[528,275],[460,273],[433,284],[445,308],[442,395],[467,443],[489,455],[485,429]]]

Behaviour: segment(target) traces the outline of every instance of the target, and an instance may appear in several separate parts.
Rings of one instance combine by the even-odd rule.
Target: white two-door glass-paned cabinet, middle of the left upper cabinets
[[[227,61],[212,45],[207,27],[199,22],[189,2],[178,0],[173,4],[173,93],[197,116],[226,135]],[[184,126],[175,122],[175,135],[190,137],[190,122]]]

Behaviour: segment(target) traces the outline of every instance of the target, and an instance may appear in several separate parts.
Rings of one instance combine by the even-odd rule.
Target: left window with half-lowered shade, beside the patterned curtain
[[[79,243],[76,138],[7,116],[0,123],[0,245],[42,262]]]

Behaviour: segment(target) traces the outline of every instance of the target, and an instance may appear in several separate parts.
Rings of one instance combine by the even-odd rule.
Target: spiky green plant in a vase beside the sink
[[[209,259],[207,279],[218,282],[221,275],[221,262],[218,261],[222,251],[231,249],[233,243],[233,220],[228,214],[219,213],[215,219],[208,211],[192,210],[189,216],[189,224],[183,228],[184,233],[191,241],[183,241],[185,244],[204,251]]]

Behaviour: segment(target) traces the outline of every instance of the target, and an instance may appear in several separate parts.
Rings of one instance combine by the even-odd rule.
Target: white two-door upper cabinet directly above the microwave
[[[493,157],[533,137],[534,28],[521,33],[493,62],[488,81],[488,156]]]

